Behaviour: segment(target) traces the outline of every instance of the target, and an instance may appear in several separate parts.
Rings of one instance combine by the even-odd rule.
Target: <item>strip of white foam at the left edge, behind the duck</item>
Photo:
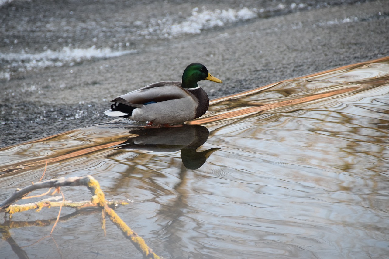
[[[84,60],[93,58],[112,58],[124,54],[134,53],[135,50],[129,51],[112,51],[110,48],[97,49],[92,46],[88,49],[71,49],[64,47],[59,51],[47,50],[42,53],[0,53],[1,63],[5,63],[0,71],[0,79],[10,80],[12,71],[17,72],[30,71],[36,68],[46,68],[52,66],[74,65]],[[16,69],[15,69],[16,68]]]

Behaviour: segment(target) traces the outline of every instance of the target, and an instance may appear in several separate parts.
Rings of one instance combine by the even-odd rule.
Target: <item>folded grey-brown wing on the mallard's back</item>
[[[111,102],[123,103],[124,105],[140,108],[145,103],[161,102],[187,97],[189,94],[180,86],[181,83],[175,81],[157,82],[130,93],[117,96]]]

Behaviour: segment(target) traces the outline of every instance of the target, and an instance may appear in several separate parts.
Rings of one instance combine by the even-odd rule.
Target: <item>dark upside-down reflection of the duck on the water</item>
[[[209,156],[220,149],[214,147],[197,151],[208,137],[209,130],[200,125],[180,125],[161,128],[131,128],[132,135],[126,142],[116,145],[115,149],[138,149],[157,152],[181,151],[181,160],[188,169],[200,168]],[[135,137],[133,137],[133,135]]]

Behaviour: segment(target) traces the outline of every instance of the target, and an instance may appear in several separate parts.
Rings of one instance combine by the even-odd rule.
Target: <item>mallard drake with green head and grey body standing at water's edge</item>
[[[125,117],[151,124],[180,124],[203,115],[209,107],[207,93],[198,86],[201,80],[221,83],[200,63],[187,66],[182,82],[163,81],[116,97],[105,115]]]

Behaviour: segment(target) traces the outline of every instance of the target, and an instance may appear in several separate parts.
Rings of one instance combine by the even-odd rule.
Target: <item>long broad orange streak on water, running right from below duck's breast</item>
[[[226,112],[226,113],[221,114],[221,115],[214,115],[214,116],[206,117],[206,118],[203,118],[203,119],[197,119],[195,121],[190,121],[187,124],[189,124],[189,125],[206,124],[206,123],[210,123],[210,122],[214,122],[214,121],[219,121],[219,120],[223,120],[223,119],[230,119],[230,118],[234,118],[234,117],[241,117],[242,115],[249,115],[249,114],[253,114],[253,113],[256,113],[256,112],[270,110],[270,109],[273,109],[273,108],[279,108],[279,107],[283,107],[283,106],[287,106],[287,105],[295,105],[295,104],[299,104],[299,103],[305,103],[305,102],[308,102],[308,101],[314,101],[314,100],[326,98],[326,97],[329,97],[329,96],[333,96],[333,95],[336,95],[336,94],[352,92],[352,91],[355,91],[355,90],[357,90],[359,88],[361,88],[361,87],[347,87],[347,88],[344,88],[344,89],[339,89],[339,90],[336,90],[336,91],[330,91],[330,92],[322,93],[322,94],[315,94],[315,95],[307,96],[307,97],[303,97],[303,98],[297,98],[297,99],[287,100],[287,101],[280,101],[278,103],[265,104],[265,105],[261,105],[261,106],[258,106],[258,107],[243,108],[241,110],[236,110],[236,111],[232,111],[232,112]]]

